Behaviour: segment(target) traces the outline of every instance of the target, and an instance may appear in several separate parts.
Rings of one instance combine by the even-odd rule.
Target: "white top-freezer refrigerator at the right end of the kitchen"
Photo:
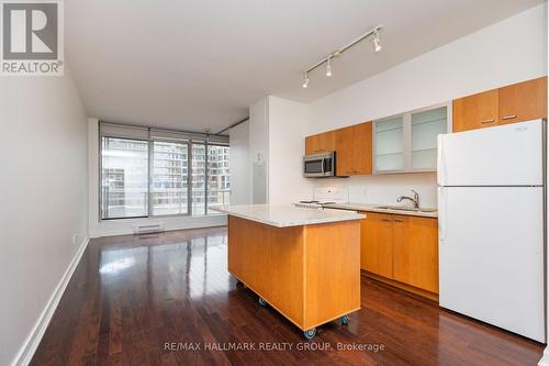
[[[438,136],[440,306],[545,342],[545,121]]]

